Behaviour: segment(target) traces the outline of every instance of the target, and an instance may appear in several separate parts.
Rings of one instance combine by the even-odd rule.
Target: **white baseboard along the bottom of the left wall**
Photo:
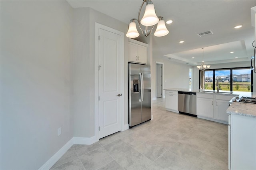
[[[56,154],[54,154],[39,170],[49,170],[74,144],[73,138],[70,139]]]

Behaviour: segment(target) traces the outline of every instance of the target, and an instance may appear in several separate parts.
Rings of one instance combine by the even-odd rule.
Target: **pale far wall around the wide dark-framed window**
[[[236,63],[220,63],[212,64],[210,69],[234,68],[234,67],[250,67],[250,61],[236,62]],[[253,84],[256,83],[256,73],[253,74]],[[196,66],[193,67],[193,87],[199,88],[199,70]],[[256,92],[256,85],[253,86],[253,91]]]

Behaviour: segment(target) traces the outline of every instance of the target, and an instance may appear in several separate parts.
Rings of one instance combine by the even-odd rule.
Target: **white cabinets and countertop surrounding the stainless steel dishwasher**
[[[178,91],[196,93],[196,116],[218,123],[228,124],[228,102],[239,93],[232,91],[204,90],[204,89],[165,89],[166,110],[179,113]],[[186,101],[184,101],[186,102]],[[185,103],[184,105],[188,105]]]

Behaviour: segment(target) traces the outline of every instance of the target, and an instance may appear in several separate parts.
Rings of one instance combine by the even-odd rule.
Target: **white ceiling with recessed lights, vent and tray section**
[[[138,17],[142,2],[142,0],[68,0],[73,8],[90,7],[126,24],[129,24],[132,18]],[[254,55],[251,8],[256,6],[255,0],[152,0],[152,2],[157,16],[163,16],[165,21],[173,20],[172,24],[166,24],[170,31],[167,36],[150,35],[153,36],[153,55],[170,57],[189,65],[201,64],[202,47],[204,47],[206,64],[249,61]],[[243,26],[234,29],[237,25]],[[202,38],[197,35],[207,31],[212,31],[213,34]],[[181,40],[185,42],[179,43]],[[234,53],[230,53],[231,51]]]

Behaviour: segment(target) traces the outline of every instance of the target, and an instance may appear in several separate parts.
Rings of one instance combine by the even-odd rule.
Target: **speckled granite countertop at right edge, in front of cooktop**
[[[227,113],[256,118],[256,104],[233,102]]]

